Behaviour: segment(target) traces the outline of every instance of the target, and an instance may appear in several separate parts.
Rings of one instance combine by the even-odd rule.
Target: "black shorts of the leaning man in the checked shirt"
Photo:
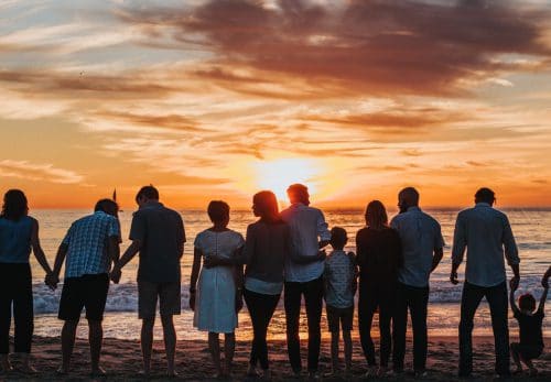
[[[87,319],[102,320],[108,291],[107,273],[65,279],[57,317],[63,320],[78,320],[85,307]]]

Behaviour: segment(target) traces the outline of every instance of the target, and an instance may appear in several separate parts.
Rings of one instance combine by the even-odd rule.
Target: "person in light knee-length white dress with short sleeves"
[[[235,264],[239,262],[245,240],[239,232],[227,228],[229,206],[225,201],[210,201],[207,212],[213,227],[195,238],[190,307],[195,312],[194,326],[208,331],[208,348],[217,376],[228,376],[235,351],[237,313],[242,306],[242,268]],[[219,334],[225,335],[224,369],[220,363]]]

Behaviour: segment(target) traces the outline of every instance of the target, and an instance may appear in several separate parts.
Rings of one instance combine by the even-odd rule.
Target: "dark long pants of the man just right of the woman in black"
[[[396,310],[392,320],[395,346],[392,352],[392,367],[395,370],[403,369],[409,308],[411,326],[413,328],[413,370],[423,371],[426,368],[426,309],[429,305],[429,286],[415,287],[399,282],[396,292]]]

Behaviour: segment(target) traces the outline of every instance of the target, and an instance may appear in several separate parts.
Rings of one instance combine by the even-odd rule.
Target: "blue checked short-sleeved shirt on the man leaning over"
[[[73,222],[63,244],[67,245],[65,277],[108,273],[111,268],[109,238],[120,240],[119,220],[96,211]]]

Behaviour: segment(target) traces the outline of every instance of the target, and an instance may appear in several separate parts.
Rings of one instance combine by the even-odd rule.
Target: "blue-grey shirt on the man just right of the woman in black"
[[[419,207],[410,207],[395,216],[390,227],[402,243],[403,266],[398,281],[410,286],[429,285],[434,251],[444,247],[440,223]]]

